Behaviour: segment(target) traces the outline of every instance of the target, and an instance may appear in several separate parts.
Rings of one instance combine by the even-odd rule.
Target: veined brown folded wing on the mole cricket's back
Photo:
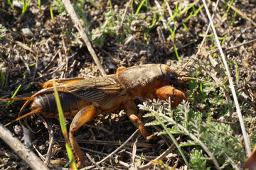
[[[118,96],[123,88],[115,75],[96,77],[63,84],[65,89],[85,101],[93,101],[104,105]]]

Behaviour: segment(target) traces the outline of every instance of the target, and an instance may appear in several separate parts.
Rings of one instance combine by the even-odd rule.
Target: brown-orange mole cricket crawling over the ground
[[[151,135],[144,128],[142,121],[134,115],[136,107],[134,98],[166,100],[170,97],[173,106],[178,106],[181,101],[187,100],[183,92],[183,79],[179,78],[178,74],[166,64],[122,67],[117,69],[117,74],[105,77],[58,79],[56,82],[65,117],[74,116],[70,125],[69,140],[78,158],[78,166],[82,163],[83,155],[74,133],[95,116],[114,111],[122,105],[129,118],[137,123],[142,135],[149,139]],[[22,116],[19,114],[19,118],[16,120],[33,113],[41,113],[46,118],[58,118],[53,94],[53,80],[47,81],[43,89],[31,97],[18,99],[26,100],[20,113],[28,103],[31,103],[31,112]]]

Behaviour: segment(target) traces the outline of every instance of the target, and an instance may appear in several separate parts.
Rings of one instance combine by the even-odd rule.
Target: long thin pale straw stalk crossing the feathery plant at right
[[[220,42],[218,40],[218,35],[215,31],[215,27],[213,25],[213,20],[210,18],[210,13],[208,11],[208,7],[207,7],[207,4],[206,4],[205,0],[203,0],[203,4],[204,4],[204,7],[206,8],[206,13],[207,13],[208,18],[210,20],[210,26],[212,27],[212,30],[213,30],[213,33],[214,33],[214,36],[215,36],[215,40],[216,40],[216,43],[218,45],[218,49],[220,50],[220,55],[223,59],[223,64],[225,65],[225,69],[226,69],[227,74],[228,74],[228,81],[230,83],[230,89],[231,89],[232,94],[233,94],[233,98],[234,98],[234,101],[235,101],[235,108],[237,109],[238,118],[239,118],[240,126],[241,126],[241,129],[242,129],[242,135],[243,135],[244,140],[245,140],[245,149],[246,149],[246,152],[247,152],[247,156],[250,157],[252,152],[251,152],[251,149],[250,149],[250,142],[249,142],[248,137],[247,137],[247,132],[245,131],[245,123],[242,120],[242,113],[240,111],[240,106],[239,106],[239,103],[238,103],[238,96],[235,94],[235,87],[234,87],[233,81],[231,79],[230,71],[228,69],[228,64],[227,64],[227,61],[225,60],[225,55],[224,55],[224,52],[221,48]]]

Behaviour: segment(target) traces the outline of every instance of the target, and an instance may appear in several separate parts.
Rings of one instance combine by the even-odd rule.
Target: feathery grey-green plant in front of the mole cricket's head
[[[191,76],[200,74],[198,69]],[[156,135],[186,136],[179,147],[190,155],[191,168],[210,169],[210,162],[213,162],[220,169],[241,169],[241,162],[246,159],[242,136],[232,124],[221,123],[224,118],[228,120],[228,107],[230,104],[233,107],[233,103],[225,100],[223,90],[218,90],[216,85],[197,84],[195,80],[188,81],[188,96],[192,103],[183,101],[177,108],[171,108],[170,101],[156,100],[144,102],[139,108],[147,112],[145,117],[156,118],[147,125],[164,123],[162,126],[166,126]],[[213,113],[218,113],[220,122],[213,121],[216,118]]]

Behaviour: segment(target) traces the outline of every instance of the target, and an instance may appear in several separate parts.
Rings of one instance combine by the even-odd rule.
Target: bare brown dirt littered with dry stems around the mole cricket
[[[37,1],[31,1],[22,18],[20,18],[21,8],[15,6],[15,13],[11,10],[7,1],[1,1],[0,3],[0,23],[7,28],[6,36],[0,40],[0,68],[4,72],[6,79],[3,88],[0,90],[1,98],[10,98],[19,85],[21,85],[21,89],[19,89],[16,97],[31,96],[31,94],[40,90],[41,86],[38,86],[36,82],[43,83],[53,78],[101,76],[90,52],[81,42],[70,17],[66,14],[59,15],[57,7],[52,1],[42,1],[41,11],[38,9]],[[177,1],[169,1],[171,8],[175,8],[177,3]],[[183,2],[184,5],[186,3],[191,4],[192,2]],[[53,19],[50,18],[50,4],[53,6]],[[88,1],[85,1],[82,6],[83,11],[86,11],[87,14],[87,24],[90,26],[87,27],[87,31],[89,33],[99,28],[100,23],[105,22],[105,13],[110,11],[109,1],[95,1],[95,4],[100,8],[95,8]],[[256,22],[256,4],[254,0],[234,1],[233,4],[248,18]],[[116,15],[122,16],[126,5],[127,1],[112,1],[113,8],[118,11]],[[154,1],[149,1],[149,5],[151,8],[156,8]],[[134,13],[138,6],[139,4],[134,3]],[[235,88],[240,92],[239,101],[247,103],[247,109],[250,110],[252,115],[255,115],[256,42],[244,43],[256,39],[256,26],[245,16],[240,16],[239,14],[237,14],[233,26],[231,26],[230,22],[235,12],[230,9],[228,16],[222,18],[225,13],[225,7],[221,2],[219,6],[215,16],[215,24],[218,25],[216,29],[219,37],[226,35],[223,50],[227,56],[233,78],[235,79],[235,75],[238,75]],[[210,8],[213,8],[212,4]],[[129,8],[129,13],[131,12],[132,9]],[[142,8],[141,12],[145,15],[142,15],[141,20],[146,20],[147,17],[151,19],[154,17],[154,13],[147,13],[145,7]],[[169,17],[168,12],[166,12],[165,16]],[[183,19],[178,18],[175,21],[177,28],[183,27]],[[105,37],[102,45],[93,46],[107,74],[114,74],[117,67],[131,67],[149,63],[164,63],[175,70],[180,69],[183,63],[186,63],[192,55],[196,54],[197,47],[203,39],[201,35],[207,29],[208,18],[206,12],[202,9],[197,17],[191,18],[186,23],[186,32],[178,31],[176,33],[175,45],[178,48],[180,61],[177,60],[174,51],[174,40],[169,38],[169,40],[163,42],[159,38],[159,28],[157,26],[151,28],[146,35],[146,29],[149,28],[150,23],[146,26],[143,25],[145,23],[140,20],[134,20],[129,25],[132,29],[132,33],[129,35],[124,35],[120,38],[121,40],[118,40],[114,35],[109,34]],[[166,39],[170,37],[168,29],[161,28],[161,30]],[[209,63],[209,56],[213,56],[213,53],[210,53],[210,47],[213,47],[213,44],[214,42],[206,40],[205,45],[203,45],[202,51],[204,53],[202,52],[197,59],[202,67]],[[235,45],[241,46],[234,47]],[[207,52],[210,55],[207,55]],[[193,69],[193,67],[193,63],[189,64],[183,74],[189,74],[189,69]],[[236,68],[238,69],[238,74],[236,74]],[[142,101],[142,99],[137,99],[135,103],[139,104]],[[23,102],[21,101],[15,101],[9,106],[6,106],[4,102],[0,102],[0,122],[6,124],[17,118],[18,111],[22,105]],[[28,111],[29,108],[26,108],[24,113]],[[146,118],[142,118],[142,120],[144,123],[148,121]],[[52,121],[54,130],[53,157],[50,169],[56,169],[56,167],[63,167],[68,162],[68,157],[65,152],[65,142],[58,120],[47,121]],[[28,124],[35,132],[31,133],[31,147],[34,150],[37,149],[45,157],[49,145],[48,130],[38,116],[33,116],[32,119],[29,118]],[[70,125],[70,119],[67,120],[67,125]],[[18,140],[23,141],[22,128],[18,123],[14,123],[8,128]],[[137,126],[127,118],[122,108],[119,108],[114,113],[99,115],[90,123],[83,125],[75,136],[80,142],[83,152],[90,154],[95,161],[98,161],[102,156],[106,156],[116,149],[119,146],[119,140],[124,142],[135,130],[137,130]],[[149,132],[154,132],[153,128],[148,128],[148,130]],[[137,137],[139,137],[138,142],[140,143],[138,145],[140,147],[137,147],[137,153],[147,155],[145,162],[149,162],[159,156],[167,148],[161,137],[154,137],[149,142],[146,142],[139,133],[130,142],[134,142]],[[95,143],[93,142],[94,140],[98,142]],[[102,141],[110,141],[110,145],[100,145]],[[0,140],[0,144],[0,169],[29,169],[26,163],[3,141]],[[112,160],[124,163],[130,162],[132,147],[126,146],[124,149],[121,154],[114,154]],[[175,149],[173,154],[177,154]],[[184,163],[179,159],[182,158],[174,157],[168,161],[169,164],[176,164],[178,169],[183,169]],[[167,159],[164,159],[164,161],[167,161]],[[85,161],[81,167],[90,166],[91,164],[90,159],[85,156]],[[115,162],[107,161],[105,167],[111,168],[111,164],[115,164]],[[116,164],[114,167],[127,169],[122,164]]]

